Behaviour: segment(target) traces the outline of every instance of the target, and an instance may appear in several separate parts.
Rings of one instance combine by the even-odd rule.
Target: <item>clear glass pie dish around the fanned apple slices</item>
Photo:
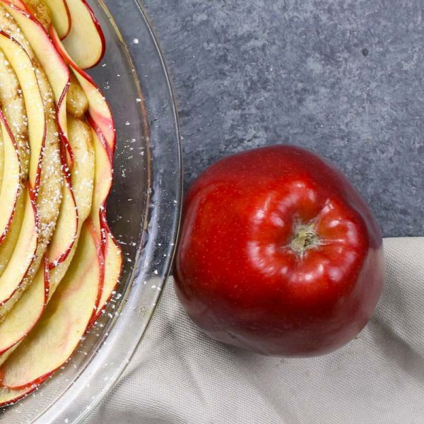
[[[0,408],[0,424],[81,422],[142,342],[175,249],[182,163],[163,57],[137,0],[88,3],[107,43],[104,59],[88,72],[117,126],[108,220],[124,251],[124,269],[105,314],[69,362],[30,396]]]

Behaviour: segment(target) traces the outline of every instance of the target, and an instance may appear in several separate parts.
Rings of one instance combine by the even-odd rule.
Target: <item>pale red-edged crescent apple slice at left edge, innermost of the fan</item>
[[[16,201],[20,196],[20,158],[15,138],[1,110],[0,128],[2,135],[1,153],[4,158],[0,189],[0,243],[2,243],[13,220]]]

